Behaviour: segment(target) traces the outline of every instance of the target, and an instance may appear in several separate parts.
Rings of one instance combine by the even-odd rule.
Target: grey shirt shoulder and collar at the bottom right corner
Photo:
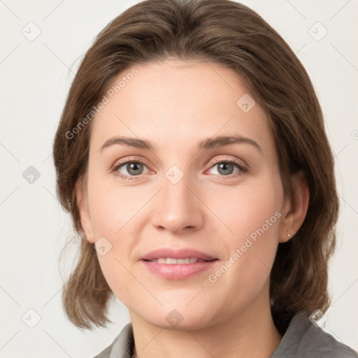
[[[358,358],[357,352],[338,342],[308,319],[306,312],[297,313],[271,358]]]

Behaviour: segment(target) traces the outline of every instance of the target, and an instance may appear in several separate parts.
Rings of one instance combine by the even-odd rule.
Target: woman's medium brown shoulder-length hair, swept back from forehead
[[[282,37],[241,3],[147,0],[125,10],[96,37],[73,80],[55,135],[57,195],[80,237],[78,263],[62,296],[69,319],[82,329],[105,326],[113,297],[96,250],[85,238],[76,202],[76,182],[87,173],[93,121],[71,138],[69,133],[120,73],[169,57],[236,71],[268,116],[285,195],[294,196],[292,174],[306,174],[308,212],[294,238],[278,245],[271,271],[271,310],[277,327],[275,317],[327,310],[327,265],[336,242],[338,197],[322,110],[306,70]]]

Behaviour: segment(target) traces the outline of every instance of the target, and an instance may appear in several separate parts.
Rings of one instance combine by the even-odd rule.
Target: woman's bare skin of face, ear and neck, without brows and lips
[[[271,317],[269,274],[278,244],[303,223],[306,180],[298,174],[299,194],[285,198],[268,119],[257,102],[248,113],[236,104],[248,90],[231,69],[176,59],[136,69],[94,119],[87,187],[77,186],[87,240],[112,245],[98,259],[129,309],[134,355],[268,358],[282,339]],[[197,149],[206,138],[234,134],[261,149],[248,141]],[[101,150],[115,136],[152,141],[157,150]],[[237,165],[222,166],[227,160]],[[118,167],[127,161],[143,164]],[[174,175],[183,174],[176,184],[166,176],[174,165]],[[259,228],[264,234],[233,261]],[[193,248],[217,261],[191,278],[159,278],[140,258],[164,247]],[[215,275],[230,257],[227,271]],[[174,309],[182,317],[175,327],[166,319]]]

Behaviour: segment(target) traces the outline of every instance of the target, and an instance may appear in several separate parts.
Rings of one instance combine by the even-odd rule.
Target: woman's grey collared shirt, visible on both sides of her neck
[[[308,320],[308,313],[296,314],[271,358],[358,358],[357,352]],[[131,323],[124,326],[113,343],[94,358],[131,358],[134,346]]]

